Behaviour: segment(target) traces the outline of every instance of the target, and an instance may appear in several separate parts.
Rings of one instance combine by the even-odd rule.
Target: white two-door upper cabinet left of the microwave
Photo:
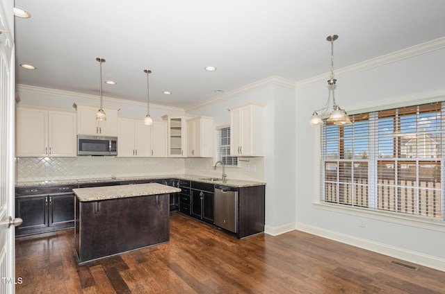
[[[17,106],[17,157],[75,157],[76,113]]]

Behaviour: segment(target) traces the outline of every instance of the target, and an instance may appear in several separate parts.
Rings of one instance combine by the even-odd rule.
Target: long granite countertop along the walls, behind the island
[[[205,175],[147,175],[147,176],[135,176],[135,177],[117,177],[117,178],[88,178],[88,179],[72,179],[72,180],[54,180],[54,181],[36,181],[36,182],[17,182],[16,187],[27,187],[27,186],[41,186],[41,185],[62,185],[62,184],[83,184],[91,182],[122,182],[131,180],[157,180],[165,178],[175,178],[180,180],[191,180],[196,182],[207,182],[210,184],[222,184],[229,187],[242,188],[242,187],[253,187],[265,185],[265,182],[255,182],[255,181],[245,181],[245,180],[235,180],[227,179],[227,182],[222,180],[204,180]]]

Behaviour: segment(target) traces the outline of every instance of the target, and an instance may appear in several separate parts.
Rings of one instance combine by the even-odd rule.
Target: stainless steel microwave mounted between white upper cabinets
[[[118,155],[118,137],[77,135],[77,155]]]

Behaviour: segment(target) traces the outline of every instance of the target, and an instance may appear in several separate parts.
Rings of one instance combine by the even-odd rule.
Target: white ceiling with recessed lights
[[[270,76],[298,82],[445,36],[443,0],[15,0],[16,83],[188,108]],[[18,64],[33,64],[26,70]],[[206,66],[216,71],[204,71]],[[327,74],[328,78],[328,74]],[[218,94],[215,90],[223,90]],[[170,91],[172,94],[162,94]]]

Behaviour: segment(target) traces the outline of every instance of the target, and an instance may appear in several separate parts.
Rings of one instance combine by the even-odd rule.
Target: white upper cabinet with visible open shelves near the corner
[[[168,123],[168,157],[187,157],[186,119],[191,119],[192,117],[193,116],[162,116],[162,119]]]

